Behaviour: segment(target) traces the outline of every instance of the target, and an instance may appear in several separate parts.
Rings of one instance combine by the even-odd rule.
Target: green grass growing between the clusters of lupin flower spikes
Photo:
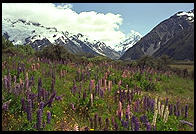
[[[118,102],[114,102],[114,93],[118,90],[118,85],[115,82],[119,82],[122,80],[122,85],[120,86],[121,89],[125,90],[126,85],[129,85],[130,90],[133,90],[135,86],[141,88],[142,95],[135,95],[133,98],[133,102],[131,103],[131,109],[136,101],[136,99],[142,98],[144,95],[148,95],[151,98],[155,98],[155,96],[160,96],[161,99],[165,99],[166,97],[169,98],[169,103],[176,103],[177,100],[180,100],[180,104],[185,106],[185,104],[189,105],[189,116],[188,121],[194,123],[194,81],[188,78],[181,78],[178,76],[172,75],[168,77],[164,74],[156,74],[156,75],[141,75],[139,73],[135,73],[130,75],[127,78],[123,78],[122,70],[117,69],[114,66],[107,67],[100,64],[94,64],[89,67],[91,71],[91,76],[85,76],[85,80],[83,81],[76,81],[76,85],[79,89],[79,85],[82,85],[82,92],[81,98],[78,98],[78,94],[75,96],[71,93],[71,88],[73,87],[73,80],[77,77],[77,70],[81,68],[81,70],[85,71],[87,69],[87,65],[79,64],[78,68],[71,65],[62,65],[62,64],[54,64],[49,65],[47,63],[40,63],[40,69],[37,71],[32,71],[31,65],[33,63],[37,63],[38,61],[29,62],[31,57],[9,57],[3,54],[2,62],[6,61],[7,66],[2,70],[2,77],[7,75],[8,69],[11,75],[17,74],[17,66],[19,62],[23,62],[25,64],[25,70],[29,72],[29,78],[34,76],[35,85],[31,88],[32,92],[37,93],[37,82],[38,78],[42,78],[42,87],[45,88],[47,91],[51,90],[51,75],[49,75],[50,69],[55,69],[56,75],[56,83],[55,83],[55,90],[57,91],[57,95],[64,95],[61,101],[54,101],[52,107],[45,107],[43,111],[43,119],[46,121],[46,112],[49,110],[52,112],[52,120],[51,124],[46,124],[46,127],[43,130],[52,131],[52,130],[74,130],[74,125],[78,124],[80,128],[88,126],[90,128],[89,118],[94,117],[94,114],[97,113],[98,116],[102,117],[102,121],[105,122],[106,118],[111,119],[111,117],[115,117],[115,120],[118,122],[120,130],[125,130],[122,126],[120,126],[120,121],[116,117],[116,110],[118,108]],[[95,58],[96,59],[96,58]],[[100,63],[104,58],[97,58]],[[90,62],[93,59],[89,59]],[[107,62],[110,64],[110,62]],[[115,62],[114,62],[115,63]],[[119,65],[120,66],[120,65]],[[60,78],[60,70],[66,70],[66,74],[63,78]],[[45,71],[44,71],[45,70]],[[95,79],[95,75],[97,74],[98,79],[104,77],[106,71],[110,71],[110,76],[108,76],[107,80],[113,81],[113,87],[111,92],[106,92],[104,97],[101,98],[100,96],[96,96],[93,102],[93,106],[90,106],[90,93],[89,90],[89,81],[90,79]],[[25,74],[21,73],[20,78],[24,81]],[[152,78],[152,82],[149,81],[149,78]],[[160,81],[155,82],[156,78],[160,78]],[[97,83],[97,81],[96,81]],[[12,86],[14,86],[12,82]],[[148,91],[146,90],[148,88]],[[82,100],[82,93],[83,91],[87,91],[87,98],[85,101]],[[94,92],[95,89],[92,89]],[[36,111],[38,104],[35,105],[33,109],[33,121],[30,123],[27,121],[26,113],[21,112],[21,103],[20,99],[24,94],[20,94],[19,96],[14,95],[13,93],[8,93],[3,85],[2,85],[2,96],[3,100],[2,103],[12,99],[8,112],[3,111],[2,113],[2,128],[3,130],[12,131],[12,130],[22,130],[28,131],[33,130],[36,131],[34,125],[36,123]],[[76,111],[73,111],[70,107],[70,103],[75,105]],[[123,110],[125,111],[125,107],[127,106],[127,102],[125,102],[123,106]],[[140,117],[143,114],[148,116],[150,122],[152,122],[153,113],[147,111],[141,112],[134,112],[134,115]],[[16,114],[17,113],[17,114]],[[125,113],[124,113],[125,115]],[[125,117],[123,117],[125,118]],[[110,126],[110,130],[113,128]],[[144,126],[141,130],[145,130]],[[181,126],[179,124],[179,119],[176,117],[171,116],[168,119],[168,123],[163,125],[163,121],[161,118],[158,118],[157,121],[157,130],[158,131],[165,131],[165,130],[193,130],[193,128],[188,126]]]

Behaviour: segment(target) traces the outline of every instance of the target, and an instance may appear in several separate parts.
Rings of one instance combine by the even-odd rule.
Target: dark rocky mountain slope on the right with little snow
[[[161,22],[129,48],[120,59],[138,59],[144,55],[168,55],[176,60],[194,60],[194,12],[178,12]]]

